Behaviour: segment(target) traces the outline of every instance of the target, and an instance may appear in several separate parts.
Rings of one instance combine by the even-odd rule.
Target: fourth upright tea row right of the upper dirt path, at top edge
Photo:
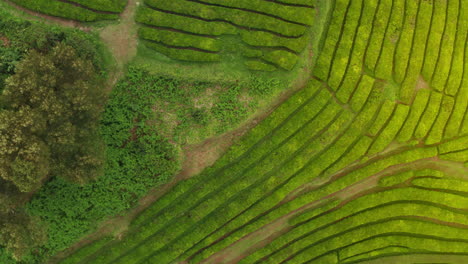
[[[377,12],[372,25],[371,37],[367,46],[364,65],[371,72],[374,73],[377,67],[377,61],[379,59],[385,37],[385,31],[389,23],[392,12],[398,11],[393,8],[393,3],[396,1],[383,0],[379,1],[377,6]],[[393,18],[392,18],[393,19]]]

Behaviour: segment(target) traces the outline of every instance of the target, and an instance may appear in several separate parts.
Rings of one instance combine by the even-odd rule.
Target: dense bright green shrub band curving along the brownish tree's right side
[[[66,248],[104,217],[130,208],[178,169],[174,146],[150,122],[155,98],[172,96],[166,90],[169,80],[145,78],[130,70],[110,96],[100,128],[107,145],[105,174],[83,186],[53,179],[29,203],[28,211],[49,227],[45,255]]]

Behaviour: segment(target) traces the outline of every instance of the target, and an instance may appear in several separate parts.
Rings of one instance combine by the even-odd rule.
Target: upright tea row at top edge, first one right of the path
[[[313,74],[318,78],[326,81],[333,62],[335,48],[338,46],[341,37],[341,28],[344,23],[344,18],[348,12],[350,1],[337,0],[332,11],[329,29],[326,33],[324,47],[317,58]]]

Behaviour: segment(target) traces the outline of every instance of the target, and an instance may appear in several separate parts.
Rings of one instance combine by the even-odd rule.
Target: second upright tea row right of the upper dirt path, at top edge
[[[349,58],[353,51],[355,35],[357,34],[361,12],[363,11],[362,1],[351,1],[346,14],[344,28],[342,29],[342,36],[338,43],[333,63],[330,70],[328,85],[337,90],[345,76],[348,67]],[[353,87],[354,88],[354,87]]]

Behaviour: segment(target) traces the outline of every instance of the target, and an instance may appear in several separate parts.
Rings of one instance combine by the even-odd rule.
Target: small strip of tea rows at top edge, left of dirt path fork
[[[127,0],[11,0],[22,7],[47,15],[82,22],[118,19]]]

